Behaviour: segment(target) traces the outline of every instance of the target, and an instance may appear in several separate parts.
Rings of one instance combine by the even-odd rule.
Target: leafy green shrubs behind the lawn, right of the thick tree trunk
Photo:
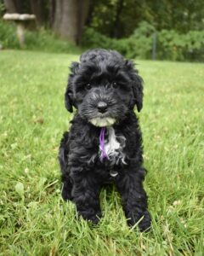
[[[88,48],[116,49],[130,58],[151,59],[154,26],[142,22],[129,38],[111,39],[93,28],[86,28],[82,45]],[[174,30],[156,32],[158,60],[204,61],[204,31],[179,34]]]

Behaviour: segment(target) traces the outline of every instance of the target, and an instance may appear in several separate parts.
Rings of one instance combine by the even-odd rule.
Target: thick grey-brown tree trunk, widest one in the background
[[[61,38],[80,43],[82,27],[88,15],[89,0],[55,0],[53,30]]]

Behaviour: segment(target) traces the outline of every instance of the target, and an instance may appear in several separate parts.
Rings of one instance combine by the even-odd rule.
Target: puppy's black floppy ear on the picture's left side
[[[68,84],[67,84],[66,90],[65,90],[65,108],[71,113],[73,112],[73,106],[75,108],[77,108],[77,105],[76,105],[76,102],[74,99],[73,78],[77,73],[78,67],[79,67],[78,62],[71,63],[71,74],[69,76]]]

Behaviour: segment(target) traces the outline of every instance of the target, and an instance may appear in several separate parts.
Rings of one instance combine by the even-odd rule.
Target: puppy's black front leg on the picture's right
[[[136,224],[139,219],[139,230],[150,228],[150,213],[147,210],[147,195],[143,189],[145,171],[126,170],[116,179],[116,186],[122,195],[123,209],[126,214],[127,224]]]

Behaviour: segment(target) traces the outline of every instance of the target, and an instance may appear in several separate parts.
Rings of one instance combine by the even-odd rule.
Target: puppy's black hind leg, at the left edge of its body
[[[59,164],[60,164],[61,173],[62,173],[61,195],[65,201],[72,200],[72,196],[71,196],[72,183],[71,183],[71,177],[69,175],[69,170],[68,170],[68,153],[69,153],[68,138],[69,138],[69,133],[65,132],[59,147]]]

